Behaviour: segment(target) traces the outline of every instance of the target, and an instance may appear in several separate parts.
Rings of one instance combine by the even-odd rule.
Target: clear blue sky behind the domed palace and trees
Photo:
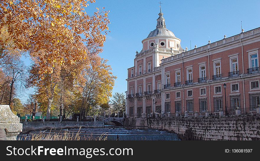
[[[116,79],[115,92],[127,90],[127,68],[134,66],[135,52],[142,50],[142,40],[156,28],[160,12],[159,0],[96,0],[87,7],[89,14],[96,7],[109,10],[109,30],[101,57],[108,59]],[[181,39],[181,46],[190,50],[208,41],[215,42],[260,27],[260,1],[242,0],[161,0],[166,28]],[[28,65],[30,62],[24,59]],[[28,91],[26,91],[29,93]],[[22,98],[24,99],[24,97]]]

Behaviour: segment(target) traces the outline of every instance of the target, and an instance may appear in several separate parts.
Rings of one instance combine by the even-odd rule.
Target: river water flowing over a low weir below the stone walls
[[[105,128],[79,128],[76,129],[62,129],[62,130],[46,130],[35,131],[30,134],[21,134],[17,136],[18,140],[23,140],[22,137],[26,136],[27,140],[30,140],[31,135],[38,133],[45,134],[60,134],[64,131],[70,134],[79,133],[80,136],[92,136],[92,137],[107,137],[107,140],[179,140],[177,134],[171,134],[169,132],[160,131],[156,129],[125,129],[119,127],[105,127]]]

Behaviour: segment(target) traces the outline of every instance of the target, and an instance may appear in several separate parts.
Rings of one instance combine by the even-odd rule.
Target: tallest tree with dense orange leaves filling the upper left
[[[103,47],[108,12],[97,8],[93,15],[88,14],[87,6],[93,2],[95,0],[0,2],[0,28],[8,26],[17,48],[29,52],[33,61],[30,84],[46,96],[47,119],[62,66],[89,60],[92,55],[86,46],[95,43]],[[81,67],[78,68],[80,72]]]

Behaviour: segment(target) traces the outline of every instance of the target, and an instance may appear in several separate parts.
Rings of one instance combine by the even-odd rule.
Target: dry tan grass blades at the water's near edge
[[[46,131],[40,132],[39,134],[32,135],[32,138],[30,140],[107,140],[107,133],[101,134],[98,137],[90,135],[80,135],[80,129],[79,131],[75,133],[70,133],[70,131],[66,130],[64,132],[59,133],[51,133],[51,130],[49,133],[45,133]],[[26,138],[25,138],[26,139]]]

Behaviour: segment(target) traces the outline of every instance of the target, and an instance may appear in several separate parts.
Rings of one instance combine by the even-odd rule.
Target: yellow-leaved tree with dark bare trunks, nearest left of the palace
[[[116,76],[111,70],[107,60],[98,57],[91,61],[90,68],[83,71],[85,82],[81,85],[83,90],[80,109],[83,119],[95,106],[107,103],[112,96]]]

